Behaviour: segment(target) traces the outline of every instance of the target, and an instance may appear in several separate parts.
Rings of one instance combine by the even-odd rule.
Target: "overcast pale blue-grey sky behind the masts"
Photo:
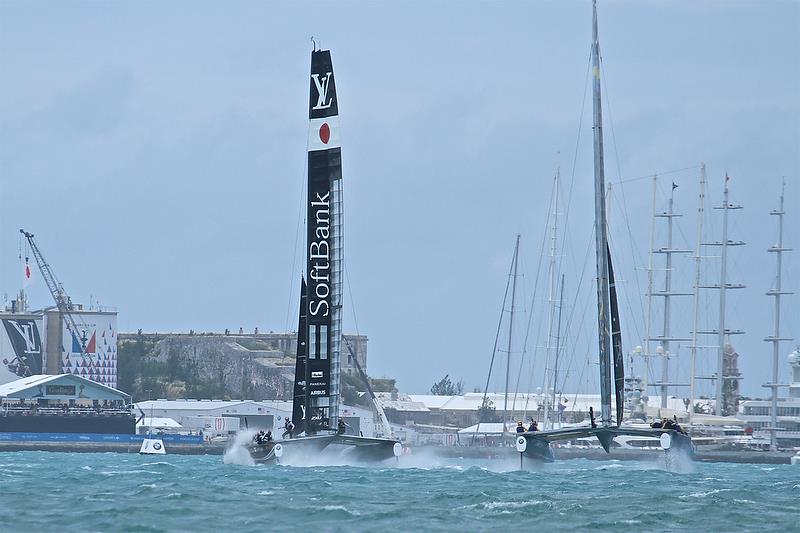
[[[765,395],[782,177],[800,253],[800,3],[609,1],[599,21],[624,348],[645,335],[652,180],[619,182],[662,173],[663,210],[675,181],[675,244],[693,249],[705,162],[707,207],[726,172],[745,206],[730,238],[748,245],[728,270],[747,289],[728,326],[747,332],[734,339],[744,392]],[[529,313],[529,355],[545,342],[544,281],[532,297],[560,166],[561,365],[567,389],[594,392],[590,31],[589,1],[0,2],[0,290],[21,283],[24,227],[73,299],[116,306],[122,331],[294,330],[313,35],[332,50],[343,130],[344,330],[369,336],[369,373],[409,392],[445,373],[482,388],[520,233],[516,380]],[[719,212],[705,225],[718,240]],[[692,261],[675,261],[690,292]],[[787,290],[800,292],[799,264],[786,257]],[[704,269],[714,282],[718,261]],[[30,298],[51,303],[41,280]],[[716,327],[715,298],[703,327]],[[690,299],[674,309],[673,334],[688,336]],[[800,338],[800,295],[783,310],[784,335]],[[687,379],[688,346],[674,347],[671,379]],[[523,388],[542,385],[536,357]]]

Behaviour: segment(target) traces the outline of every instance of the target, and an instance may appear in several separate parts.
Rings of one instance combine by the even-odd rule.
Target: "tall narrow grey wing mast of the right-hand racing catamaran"
[[[603,113],[600,102],[600,42],[597,36],[597,0],[592,0],[592,94],[594,132],[594,218],[597,264],[597,329],[600,359],[600,419],[611,425],[611,323],[609,318],[608,236],[606,184],[603,167]],[[619,421],[618,421],[619,422]]]

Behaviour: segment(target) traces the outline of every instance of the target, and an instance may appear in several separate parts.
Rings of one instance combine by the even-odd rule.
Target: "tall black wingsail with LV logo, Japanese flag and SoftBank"
[[[341,341],[341,180],[339,104],[329,50],[311,53],[308,130],[306,432],[338,417]]]

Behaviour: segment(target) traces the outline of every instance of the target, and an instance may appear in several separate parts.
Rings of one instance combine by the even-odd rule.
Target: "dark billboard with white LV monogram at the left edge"
[[[0,385],[42,374],[42,319],[6,316],[0,329]]]

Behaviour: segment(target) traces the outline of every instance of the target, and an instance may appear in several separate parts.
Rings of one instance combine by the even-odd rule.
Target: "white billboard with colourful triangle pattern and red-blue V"
[[[62,325],[61,373],[117,386],[117,315],[73,312],[78,331]]]

